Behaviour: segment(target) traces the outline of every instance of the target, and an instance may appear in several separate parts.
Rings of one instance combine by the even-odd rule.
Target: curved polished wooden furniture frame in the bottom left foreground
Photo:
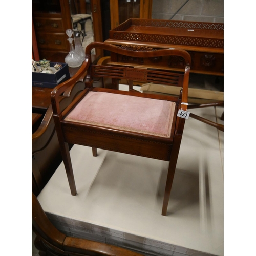
[[[40,256],[142,256],[114,245],[66,236],[53,226],[33,193],[32,230],[37,235],[34,244]]]

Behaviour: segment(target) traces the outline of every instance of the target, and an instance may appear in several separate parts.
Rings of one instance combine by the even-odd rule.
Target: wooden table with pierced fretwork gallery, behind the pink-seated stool
[[[110,38],[105,42],[137,51],[182,48],[191,56],[191,73],[224,75],[222,23],[131,18],[110,30]],[[115,56],[111,59],[119,61]],[[175,68],[181,63],[180,58],[174,57],[170,67]]]

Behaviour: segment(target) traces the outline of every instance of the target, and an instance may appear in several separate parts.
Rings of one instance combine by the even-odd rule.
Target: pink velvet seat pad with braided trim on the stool
[[[168,138],[174,111],[175,102],[89,92],[65,120]]]

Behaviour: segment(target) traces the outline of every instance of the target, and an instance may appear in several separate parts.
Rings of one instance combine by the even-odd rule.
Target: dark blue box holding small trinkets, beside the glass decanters
[[[50,67],[54,67],[56,62],[50,62]],[[58,84],[70,78],[69,67],[66,63],[58,63],[62,67],[55,74],[32,72],[32,86],[54,88]]]

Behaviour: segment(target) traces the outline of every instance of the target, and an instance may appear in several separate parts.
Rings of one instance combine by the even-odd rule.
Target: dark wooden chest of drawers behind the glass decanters
[[[40,59],[65,62],[67,29],[72,29],[69,0],[32,0],[32,16]]]

